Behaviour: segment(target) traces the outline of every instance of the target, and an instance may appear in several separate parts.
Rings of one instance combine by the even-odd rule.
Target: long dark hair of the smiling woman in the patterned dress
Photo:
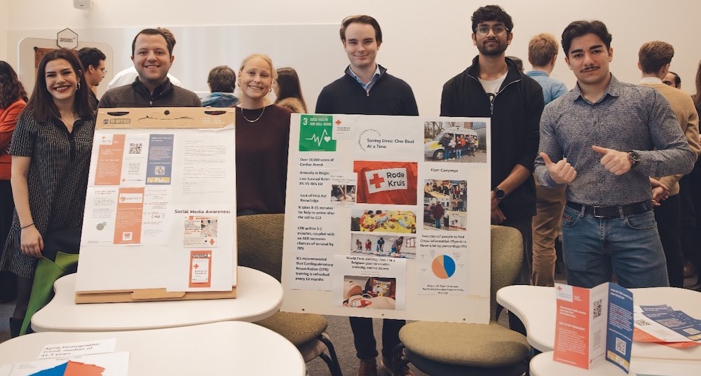
[[[53,60],[63,59],[71,64],[73,71],[78,77],[78,82],[81,85],[80,90],[76,91],[76,97],[73,102],[73,111],[82,119],[91,119],[95,117],[95,112],[90,107],[90,99],[88,98],[88,90],[90,87],[86,83],[86,77],[83,74],[83,66],[78,60],[78,55],[74,50],[67,48],[58,48],[52,50],[46,55],[43,55],[39,67],[36,69],[36,82],[34,83],[34,91],[32,97],[29,97],[29,102],[24,111],[32,111],[34,119],[39,123],[47,123],[51,118],[59,118],[61,116],[58,107],[53,102],[51,93],[46,90],[46,64]],[[24,112],[22,111],[22,112]]]

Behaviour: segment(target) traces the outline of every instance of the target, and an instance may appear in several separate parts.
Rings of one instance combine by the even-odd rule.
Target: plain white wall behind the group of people
[[[550,32],[558,37],[573,20],[599,19],[606,22],[613,34],[614,59],[611,70],[622,81],[637,82],[637,50],[642,43],[660,39],[672,43],[676,55],[672,70],[681,75],[683,89],[695,92],[693,81],[701,53],[698,42],[691,34],[701,13],[701,3],[675,3],[673,12],[660,7],[653,0],[495,0],[466,1],[442,0],[418,2],[414,0],[356,0],[336,2],[328,0],[93,0],[90,11],[73,8],[72,0],[0,0],[0,58],[16,64],[16,36],[55,38],[65,27],[94,30],[95,35],[109,34],[115,53],[114,71],[128,65],[128,56],[118,58],[118,51],[130,48],[134,29],[143,27],[187,27],[206,25],[294,25],[339,24],[352,13],[366,13],[377,18],[383,28],[384,43],[378,61],[394,74],[407,81],[414,89],[422,115],[437,115],[442,84],[463,71],[477,54],[470,41],[470,15],[479,6],[500,4],[515,22],[514,41],[507,50],[525,60],[531,35]],[[5,11],[7,10],[7,12]],[[635,17],[634,14],[642,13]],[[663,15],[674,15],[674,20]],[[8,36],[12,35],[10,40]],[[179,41],[186,35],[176,35]],[[334,38],[338,36],[334,35]],[[212,54],[227,48],[226,36],[221,45],[210,47]],[[203,41],[207,43],[207,41]],[[325,54],[332,61],[344,58],[340,41],[335,50],[318,50],[305,39],[287,39],[280,35],[280,43],[295,48],[295,53],[322,59]],[[114,46],[121,44],[121,46]],[[201,47],[201,46],[198,46]],[[265,52],[266,46],[250,53]],[[199,51],[199,50],[198,50]],[[208,71],[212,64],[209,53],[190,53],[176,46],[174,69]],[[238,61],[227,62],[238,67]],[[334,63],[336,64],[336,63]],[[343,66],[327,67],[341,76]],[[206,74],[206,73],[205,73]],[[553,76],[569,88],[575,79],[562,62],[562,54]],[[329,80],[330,81],[330,80]],[[308,102],[313,104],[321,89],[306,85],[303,89]],[[193,90],[205,90],[204,82],[189,83]]]

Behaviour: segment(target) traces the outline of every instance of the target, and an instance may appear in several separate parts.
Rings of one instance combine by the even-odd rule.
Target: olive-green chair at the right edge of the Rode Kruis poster
[[[492,311],[496,310],[499,288],[519,280],[522,262],[521,233],[506,226],[491,226]],[[399,333],[401,343],[395,349],[395,364],[402,367],[411,363],[428,375],[523,375],[529,358],[526,337],[496,319],[488,324],[407,323]]]

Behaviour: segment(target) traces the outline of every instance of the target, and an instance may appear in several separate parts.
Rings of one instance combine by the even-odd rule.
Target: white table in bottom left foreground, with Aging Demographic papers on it
[[[0,365],[36,360],[47,344],[110,338],[116,338],[115,351],[129,351],[130,376],[306,374],[304,360],[292,342],[243,321],[154,330],[33,333],[0,343]]]

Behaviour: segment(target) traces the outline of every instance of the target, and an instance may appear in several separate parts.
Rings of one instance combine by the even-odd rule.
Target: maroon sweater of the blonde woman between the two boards
[[[284,213],[289,109],[271,104],[254,123],[236,109],[236,209]],[[243,110],[249,120],[260,110]]]

